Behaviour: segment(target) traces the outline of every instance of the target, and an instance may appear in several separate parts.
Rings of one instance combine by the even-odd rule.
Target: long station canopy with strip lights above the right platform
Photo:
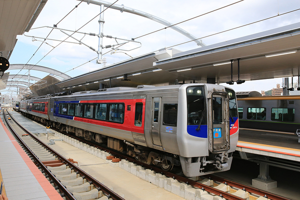
[[[68,91],[189,82],[222,83],[297,76],[300,23],[199,47],[163,49],[85,73],[56,85]],[[239,60],[239,61],[238,61]]]

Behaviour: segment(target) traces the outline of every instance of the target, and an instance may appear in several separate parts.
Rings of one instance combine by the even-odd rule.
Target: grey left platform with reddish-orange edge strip
[[[0,122],[0,178],[8,199],[62,199]]]

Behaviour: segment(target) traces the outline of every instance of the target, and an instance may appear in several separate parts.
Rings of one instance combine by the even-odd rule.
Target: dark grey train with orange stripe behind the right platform
[[[238,97],[237,102],[239,127],[293,133],[300,129],[300,95]]]

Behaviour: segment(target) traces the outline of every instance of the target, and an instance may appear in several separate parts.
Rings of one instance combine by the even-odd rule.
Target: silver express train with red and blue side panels
[[[238,139],[235,92],[216,84],[139,85],[20,101],[46,125],[186,176],[230,169]]]

